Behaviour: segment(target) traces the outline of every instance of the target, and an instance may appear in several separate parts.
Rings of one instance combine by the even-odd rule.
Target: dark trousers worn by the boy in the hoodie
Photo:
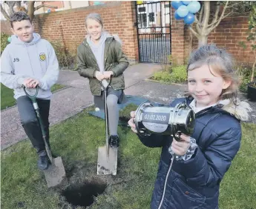
[[[45,127],[46,139],[49,144],[49,111],[50,100],[49,99],[36,99],[39,105],[39,113],[42,117],[43,126]],[[22,122],[27,137],[30,139],[33,147],[36,148],[38,153],[45,150],[45,143],[42,138],[42,131],[39,126],[36,112],[33,108],[31,100],[27,96],[20,96],[17,99],[17,106],[19,110],[19,116]]]

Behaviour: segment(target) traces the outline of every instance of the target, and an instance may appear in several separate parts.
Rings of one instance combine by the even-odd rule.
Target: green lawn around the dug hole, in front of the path
[[[96,176],[97,149],[105,144],[104,130],[104,121],[90,116],[86,110],[50,127],[52,149],[62,156],[69,184],[105,182],[105,192],[88,208],[149,208],[160,149],[145,147],[128,127],[119,127],[117,175]],[[243,123],[240,151],[220,187],[220,209],[255,208],[255,133],[256,125]],[[63,188],[47,189],[44,174],[36,168],[36,160],[28,140],[1,152],[1,207],[73,208],[61,195]]]

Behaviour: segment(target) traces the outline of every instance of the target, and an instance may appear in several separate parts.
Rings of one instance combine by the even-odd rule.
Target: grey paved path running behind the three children
[[[134,64],[128,67],[125,70],[125,94],[142,96],[165,105],[176,97],[183,96],[186,85],[147,81],[158,70],[161,70],[159,64]],[[50,104],[50,125],[62,122],[93,104],[88,79],[82,78],[77,72],[61,70],[58,83],[64,84],[66,88],[53,93]],[[243,94],[240,97],[246,99]],[[249,122],[256,124],[256,103],[249,103],[254,109]],[[17,107],[1,111],[1,149],[26,138],[20,125]]]

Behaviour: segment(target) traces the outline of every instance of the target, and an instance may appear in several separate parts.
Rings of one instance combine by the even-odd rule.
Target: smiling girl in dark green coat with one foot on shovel
[[[117,125],[119,108],[117,104],[125,102],[125,79],[123,72],[128,67],[128,60],[122,52],[120,41],[103,30],[102,18],[98,13],[91,13],[85,18],[88,35],[77,50],[78,73],[89,79],[94,104],[104,108],[102,79],[110,79],[107,106],[109,121],[109,145],[119,147]]]

